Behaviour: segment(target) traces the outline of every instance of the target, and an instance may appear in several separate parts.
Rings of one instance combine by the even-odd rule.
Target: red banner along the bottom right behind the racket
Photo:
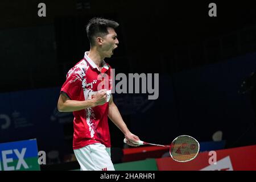
[[[156,159],[159,171],[254,171],[256,145],[201,152],[190,162],[180,163],[172,158]]]

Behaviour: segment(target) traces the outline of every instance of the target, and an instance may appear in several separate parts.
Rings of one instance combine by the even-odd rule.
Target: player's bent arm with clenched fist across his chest
[[[60,112],[72,112],[82,109],[87,109],[89,107],[95,107],[98,105],[105,104],[106,102],[106,90],[100,90],[92,100],[86,101],[75,101],[71,100],[67,94],[61,92],[59,101],[57,104],[57,109]]]

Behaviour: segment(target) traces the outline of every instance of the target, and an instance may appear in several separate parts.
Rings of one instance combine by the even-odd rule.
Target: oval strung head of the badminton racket
[[[171,158],[177,162],[189,162],[196,158],[200,144],[189,135],[180,135],[170,145]]]

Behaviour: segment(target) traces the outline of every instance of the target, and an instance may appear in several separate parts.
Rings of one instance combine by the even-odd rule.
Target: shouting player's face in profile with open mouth
[[[111,57],[114,53],[114,49],[117,48],[118,39],[117,33],[114,28],[108,28],[109,34],[102,38],[104,41],[102,42],[102,55],[104,57]]]

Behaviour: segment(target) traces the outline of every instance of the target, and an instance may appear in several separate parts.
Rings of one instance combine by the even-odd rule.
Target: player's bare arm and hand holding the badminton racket
[[[111,119],[111,121],[115,124],[115,126],[117,126],[122,131],[122,133],[125,135],[125,138],[127,139],[127,144],[129,144],[130,146],[138,146],[136,144],[131,143],[131,142],[137,142],[137,140],[139,140],[139,137],[132,134],[130,132],[130,130],[127,128],[117,106],[113,102],[113,96],[111,96],[111,98],[109,100],[108,116]]]

